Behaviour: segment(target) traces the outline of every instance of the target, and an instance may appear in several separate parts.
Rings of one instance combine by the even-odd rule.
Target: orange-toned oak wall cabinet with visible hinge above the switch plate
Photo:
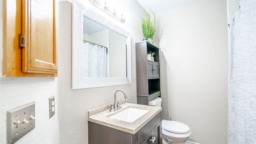
[[[2,76],[58,76],[57,3],[3,1]]]

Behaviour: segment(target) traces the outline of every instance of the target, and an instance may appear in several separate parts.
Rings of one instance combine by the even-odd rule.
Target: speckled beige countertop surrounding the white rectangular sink
[[[110,106],[104,105],[98,108],[93,108],[87,111],[87,120],[90,122],[95,122],[110,128],[115,128],[117,130],[122,130],[131,134],[135,134],[142,128],[146,123],[148,123],[154,116],[162,111],[161,107],[147,106],[141,104],[128,103],[126,100],[121,103],[121,109],[114,112],[110,112]],[[140,108],[144,110],[149,110],[146,114],[135,120],[134,122],[125,122],[122,120],[117,120],[110,118],[114,114],[121,112],[127,108]]]

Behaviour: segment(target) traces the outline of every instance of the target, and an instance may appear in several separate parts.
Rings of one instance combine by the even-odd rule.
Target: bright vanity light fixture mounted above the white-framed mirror
[[[127,19],[130,16],[130,13],[125,12],[123,14],[121,10],[119,10],[118,8],[114,8],[113,6],[111,6],[111,4],[104,0],[90,0],[90,2],[94,6],[106,12],[108,15],[112,16],[121,23],[124,23],[125,19]]]

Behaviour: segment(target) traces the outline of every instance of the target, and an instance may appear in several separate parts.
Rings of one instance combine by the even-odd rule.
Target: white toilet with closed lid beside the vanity
[[[154,98],[148,102],[150,106],[161,107],[162,98]],[[185,144],[191,135],[190,128],[182,122],[162,120],[163,144]]]

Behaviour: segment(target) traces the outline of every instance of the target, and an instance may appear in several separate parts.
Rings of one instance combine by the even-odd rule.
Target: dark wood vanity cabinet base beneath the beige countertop
[[[150,141],[150,138],[154,139]],[[161,115],[158,113],[152,120],[135,134],[110,128],[88,121],[89,144],[162,144]]]

